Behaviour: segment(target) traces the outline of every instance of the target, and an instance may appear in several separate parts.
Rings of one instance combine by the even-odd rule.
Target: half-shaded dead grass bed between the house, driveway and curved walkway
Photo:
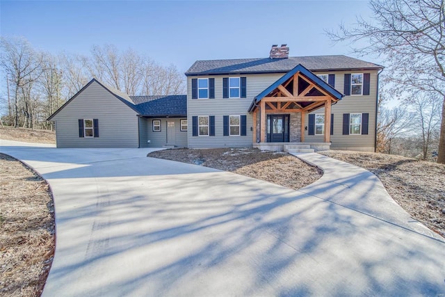
[[[293,189],[312,184],[322,175],[318,168],[289,154],[252,148],[172,149],[152,152],[148,156],[230,171]]]

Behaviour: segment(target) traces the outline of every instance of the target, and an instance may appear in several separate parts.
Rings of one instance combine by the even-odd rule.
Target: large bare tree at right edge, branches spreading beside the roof
[[[357,54],[379,54],[396,93],[418,90],[439,95],[442,123],[438,163],[445,163],[445,0],[370,0],[373,18],[355,28],[328,31],[335,42],[366,40]]]

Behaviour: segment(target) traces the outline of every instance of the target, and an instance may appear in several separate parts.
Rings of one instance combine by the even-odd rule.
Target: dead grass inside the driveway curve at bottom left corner
[[[49,186],[6,154],[0,168],[0,296],[40,296],[54,255]]]

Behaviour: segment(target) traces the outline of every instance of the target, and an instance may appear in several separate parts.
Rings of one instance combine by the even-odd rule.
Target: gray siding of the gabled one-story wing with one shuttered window
[[[79,119],[98,119],[99,137],[79,137]],[[61,109],[56,122],[57,147],[138,147],[136,111],[93,82]]]

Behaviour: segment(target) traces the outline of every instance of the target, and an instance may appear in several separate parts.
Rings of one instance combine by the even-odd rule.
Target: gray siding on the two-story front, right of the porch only
[[[316,72],[315,72],[316,73]],[[332,72],[331,72],[332,73]],[[364,72],[334,72],[335,88],[344,93],[344,74],[345,73],[364,73]],[[377,71],[366,71],[371,73],[369,95],[351,95],[345,96],[337,104],[332,105],[332,114],[334,114],[334,134],[331,135],[332,150],[362,150],[373,152],[375,147],[375,107],[377,104]],[[317,74],[317,73],[316,73]],[[325,72],[323,72],[325,74]],[[324,114],[325,109],[317,109],[312,113]],[[369,113],[369,134],[368,135],[343,135],[343,113]],[[305,126],[309,125],[308,115],[305,117]],[[323,136],[312,136],[305,130],[306,142],[323,142]]]

